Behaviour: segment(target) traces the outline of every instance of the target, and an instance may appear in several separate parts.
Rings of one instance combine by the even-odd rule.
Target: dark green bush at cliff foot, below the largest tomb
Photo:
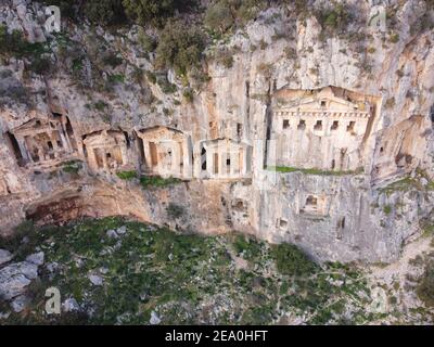
[[[271,255],[279,272],[289,275],[310,275],[318,266],[295,245],[282,243],[271,248]]]

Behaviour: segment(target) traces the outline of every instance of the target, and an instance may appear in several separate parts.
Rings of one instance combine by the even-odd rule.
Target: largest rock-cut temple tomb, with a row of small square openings
[[[272,106],[268,165],[356,170],[371,106],[336,97],[331,87],[280,98]]]

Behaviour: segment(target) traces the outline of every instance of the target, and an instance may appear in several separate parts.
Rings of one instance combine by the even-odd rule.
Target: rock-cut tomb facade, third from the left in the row
[[[137,136],[140,163],[145,174],[192,178],[193,149],[190,136],[163,126],[139,130]]]

